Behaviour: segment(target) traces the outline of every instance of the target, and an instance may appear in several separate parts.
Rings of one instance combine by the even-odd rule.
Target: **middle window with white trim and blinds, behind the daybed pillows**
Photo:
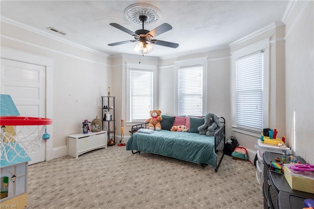
[[[175,114],[202,116],[207,112],[207,57],[175,62]]]

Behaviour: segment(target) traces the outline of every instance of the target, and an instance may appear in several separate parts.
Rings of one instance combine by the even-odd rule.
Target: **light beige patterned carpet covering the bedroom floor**
[[[27,209],[262,209],[256,167],[212,166],[112,146],[28,166]]]

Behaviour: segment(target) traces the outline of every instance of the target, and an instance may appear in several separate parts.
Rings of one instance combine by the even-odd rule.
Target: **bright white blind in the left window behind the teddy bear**
[[[145,120],[153,108],[153,71],[131,69],[131,121]]]

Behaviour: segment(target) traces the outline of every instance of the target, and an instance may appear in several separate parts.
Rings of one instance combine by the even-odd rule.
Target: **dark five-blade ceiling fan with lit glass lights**
[[[147,16],[139,15],[138,18],[139,18],[140,22],[142,23],[142,29],[136,30],[135,32],[125,28],[124,26],[120,26],[119,24],[110,23],[109,24],[110,26],[116,27],[116,28],[132,35],[134,37],[134,40],[116,42],[116,43],[108,44],[108,46],[117,46],[117,45],[121,45],[121,44],[127,44],[130,42],[133,43],[133,42],[139,41],[139,43],[135,47],[135,51],[141,52],[143,54],[149,53],[153,50],[152,45],[150,45],[149,43],[164,46],[164,47],[170,47],[170,48],[179,47],[179,44],[176,44],[176,43],[153,39],[157,35],[160,35],[164,32],[167,32],[168,30],[171,30],[172,26],[170,26],[167,23],[164,23],[164,24],[156,27],[155,29],[149,31],[149,30],[144,29],[144,23],[147,21]],[[147,43],[147,42],[149,42],[149,43]]]

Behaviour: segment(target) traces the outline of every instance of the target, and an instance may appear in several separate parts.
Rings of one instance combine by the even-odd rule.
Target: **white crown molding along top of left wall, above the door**
[[[108,57],[108,56],[109,56],[109,54],[107,54],[107,53],[99,52],[99,51],[97,51],[97,50],[90,49],[90,48],[88,48],[88,47],[85,47],[85,46],[83,46],[83,45],[77,44],[77,43],[75,43],[75,42],[66,40],[66,39],[64,39],[64,38],[60,38],[60,37],[55,36],[55,35],[52,35],[52,34],[46,32],[46,31],[44,31],[44,30],[40,30],[40,29],[37,29],[37,28],[35,28],[35,27],[28,26],[28,25],[26,25],[26,24],[17,22],[17,21],[15,21],[15,20],[6,18],[6,17],[4,17],[4,16],[0,16],[0,20],[1,20],[1,22],[4,22],[4,23],[7,23],[7,24],[10,24],[10,25],[13,25],[13,26],[17,26],[17,27],[26,29],[26,30],[28,30],[28,31],[31,31],[31,32],[34,32],[34,33],[37,33],[37,34],[40,34],[40,35],[43,35],[43,36],[46,36],[46,37],[51,38],[51,39],[53,39],[53,40],[56,40],[56,41],[59,41],[59,42],[68,44],[68,45],[70,45],[70,46],[77,47],[77,48],[79,48],[79,49],[82,49],[82,50],[85,50],[85,51],[88,51],[88,52],[93,52],[93,53],[96,53],[96,54],[99,54],[99,55],[102,55],[102,56],[105,56],[105,57]]]

